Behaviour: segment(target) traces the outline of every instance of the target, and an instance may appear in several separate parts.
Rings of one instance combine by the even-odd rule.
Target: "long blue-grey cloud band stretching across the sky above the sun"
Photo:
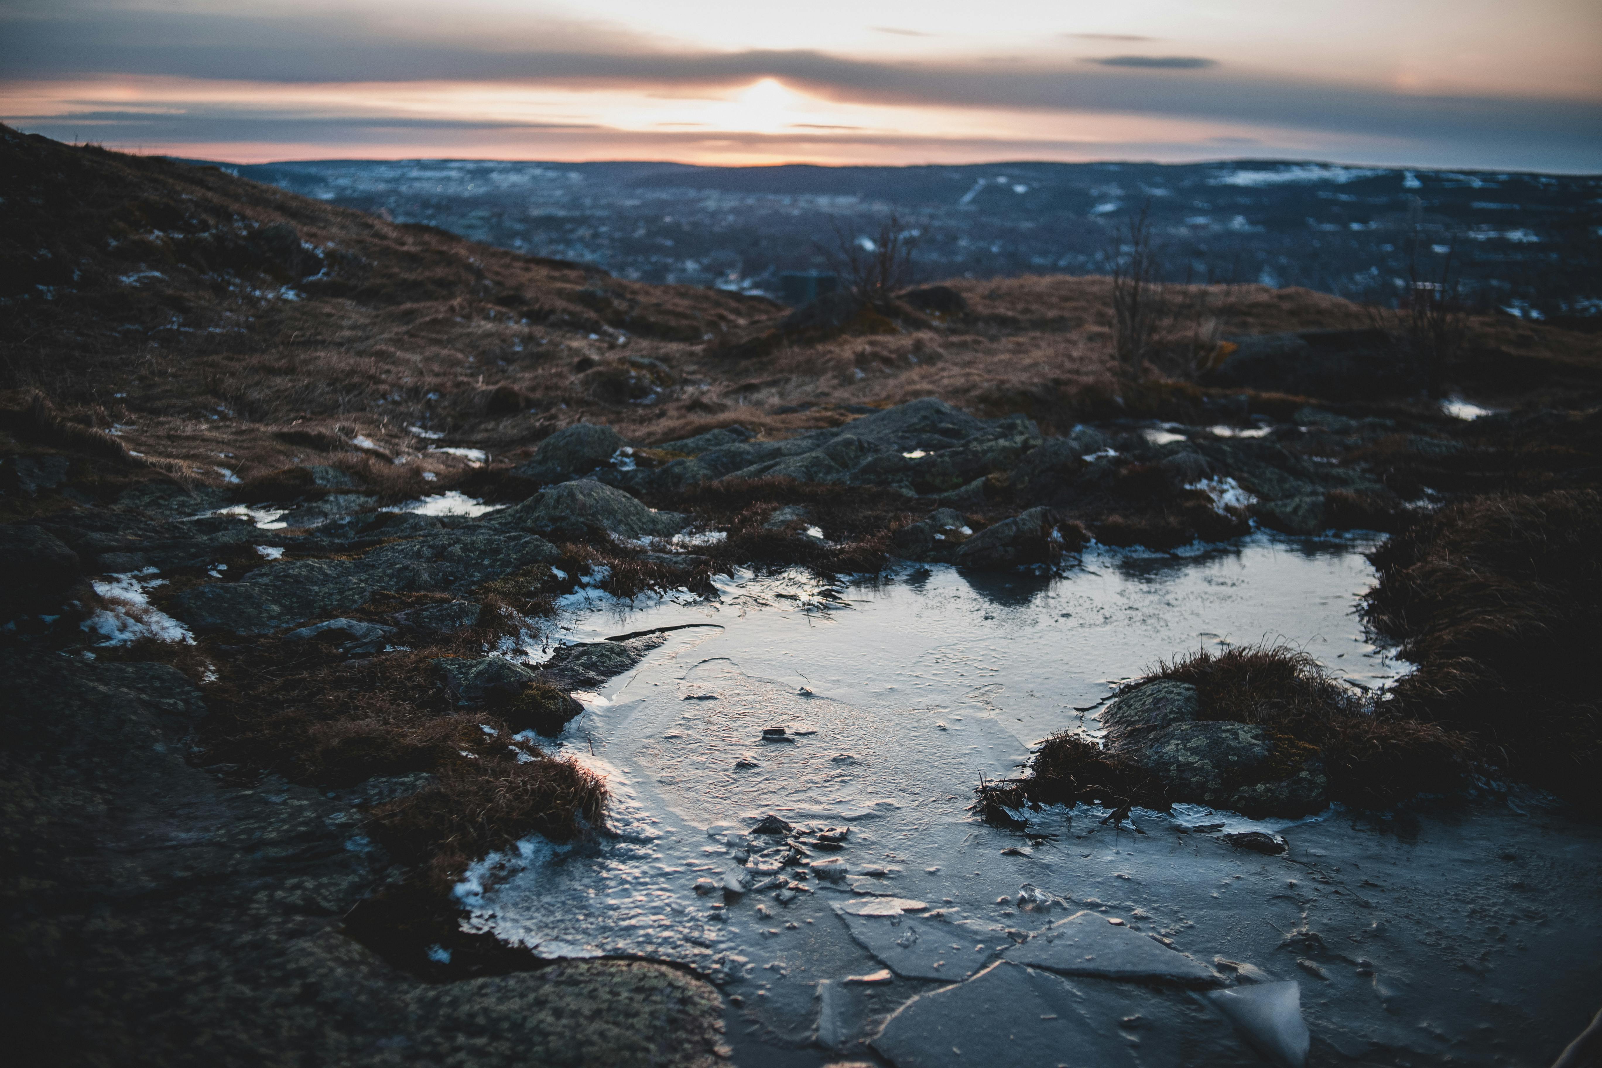
[[[517,50],[505,42],[497,48],[429,43],[314,16],[0,14],[0,70],[13,82],[127,74],[280,83],[492,82],[658,94],[777,78],[831,101],[1165,115],[1294,130],[1309,138],[1357,135],[1395,146],[1426,139],[1495,144],[1503,149],[1498,159],[1594,146],[1602,136],[1602,106],[1592,101],[1405,94],[1386,86],[1218,70],[1206,59],[1185,56],[913,62],[804,50],[670,51],[604,34],[567,51]],[[260,91],[271,99],[271,88]]]

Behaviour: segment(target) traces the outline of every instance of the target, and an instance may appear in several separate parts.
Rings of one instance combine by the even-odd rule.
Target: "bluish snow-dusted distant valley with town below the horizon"
[[[319,160],[240,176],[642,282],[799,303],[896,213],[916,271],[1096,274],[1145,210],[1171,280],[1394,304],[1415,283],[1602,325],[1602,178],[1237,160],[761,167]],[[785,275],[791,275],[785,279]],[[809,280],[811,279],[811,280]]]

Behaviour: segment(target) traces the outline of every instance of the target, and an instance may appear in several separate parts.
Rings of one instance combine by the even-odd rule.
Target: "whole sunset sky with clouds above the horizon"
[[[0,122],[239,163],[1602,173],[1602,2],[0,0]]]

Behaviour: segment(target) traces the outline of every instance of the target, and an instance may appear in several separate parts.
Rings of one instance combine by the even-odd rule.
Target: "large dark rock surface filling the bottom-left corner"
[[[173,668],[5,656],[0,671],[18,1063],[723,1063],[721,998],[682,969],[506,958],[425,982],[348,937],[343,917],[399,871],[362,837],[360,807],[418,777],[229,786],[186,762],[205,706]]]

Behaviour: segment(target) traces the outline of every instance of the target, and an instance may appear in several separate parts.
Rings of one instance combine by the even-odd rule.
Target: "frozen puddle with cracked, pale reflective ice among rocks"
[[[1325,1057],[1549,1062],[1602,977],[1599,836],[1556,812],[1181,807],[1136,812],[1137,834],[1081,805],[1032,813],[1027,839],[968,812],[980,775],[1094,732],[1158,658],[1283,639],[1355,682],[1395,677],[1354,616],[1365,548],[1256,536],[1088,554],[1056,580],[908,567],[878,588],[745,576],[718,602],[575,602],[582,640],[681,628],[562,738],[609,777],[614,834],[476,865],[468,925],[697,969],[731,998],[742,1065],[863,1042],[902,1066],[1282,1063],[1302,1022]],[[769,815],[791,833],[751,833]],[[1290,852],[1232,849],[1219,823]],[[791,844],[809,868],[785,865]],[[1298,986],[1206,994],[1270,982]]]

